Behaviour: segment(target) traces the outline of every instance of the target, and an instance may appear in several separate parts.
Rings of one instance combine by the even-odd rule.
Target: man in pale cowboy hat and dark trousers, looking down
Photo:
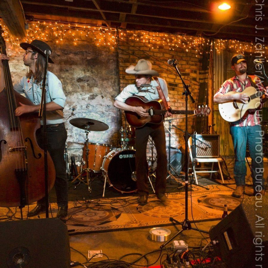
[[[130,111],[138,114],[140,117],[147,117],[148,111],[141,106],[131,106],[125,103],[125,100],[133,95],[145,97],[148,101],[161,99],[156,87],[160,85],[163,90],[163,95],[167,101],[168,89],[166,81],[157,78],[158,81],[152,79],[152,76],[158,76],[158,72],[152,70],[152,64],[148,60],[141,59],[136,66],[130,65],[126,69],[127,74],[135,75],[135,84],[130,84],[116,96],[114,106],[124,111]],[[159,83],[159,84],[158,84]],[[162,98],[163,99],[163,98]],[[165,117],[172,116],[169,111],[166,111]],[[147,185],[147,164],[146,164],[146,148],[149,135],[152,137],[157,151],[157,168],[156,168],[156,183],[155,192],[161,202],[166,201],[166,174],[167,174],[167,158],[166,158],[166,135],[163,122],[160,124],[146,124],[135,129],[135,147],[136,147],[136,175],[137,188],[140,195],[139,204],[145,205],[148,200],[148,185]]]

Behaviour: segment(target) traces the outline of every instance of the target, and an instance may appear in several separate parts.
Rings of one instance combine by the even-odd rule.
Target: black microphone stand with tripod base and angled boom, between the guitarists
[[[191,227],[191,222],[188,219],[188,139],[189,139],[189,133],[188,133],[188,96],[190,96],[191,102],[195,103],[195,100],[193,98],[193,96],[191,95],[191,92],[189,91],[189,86],[185,84],[180,71],[177,67],[177,63],[175,63],[175,61],[173,61],[173,67],[175,68],[175,70],[177,71],[177,74],[180,77],[180,80],[183,84],[183,95],[185,95],[185,218],[183,220],[183,222],[178,222],[177,220],[173,219],[172,217],[169,218],[170,221],[174,221],[178,224],[180,224],[182,226],[181,230],[178,231],[174,236],[172,236],[168,241],[166,241],[164,244],[162,244],[160,246],[160,248],[162,249],[163,247],[165,247],[167,244],[169,244],[170,241],[172,241],[175,237],[177,237],[180,233],[182,233],[184,230],[196,230],[199,232],[203,232],[203,233],[208,233],[207,231],[203,231],[203,230],[199,230],[197,228],[192,228]]]

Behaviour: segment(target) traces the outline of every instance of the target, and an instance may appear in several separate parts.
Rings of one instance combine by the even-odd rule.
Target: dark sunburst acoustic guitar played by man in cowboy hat
[[[135,112],[125,111],[127,122],[133,127],[143,127],[145,124],[160,124],[167,110],[163,109],[163,101],[152,100],[148,101],[142,96],[130,96],[125,101],[130,106],[141,106],[148,112],[147,117],[141,117]],[[185,110],[172,110],[169,109],[172,114],[186,114]],[[189,114],[208,116],[210,113],[209,107],[199,107],[196,110],[188,111]]]

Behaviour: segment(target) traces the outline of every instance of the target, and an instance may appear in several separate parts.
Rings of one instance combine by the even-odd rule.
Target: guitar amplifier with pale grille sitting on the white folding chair
[[[199,158],[219,157],[219,135],[196,134],[195,137],[200,141],[195,141],[195,152],[193,152],[193,155]]]

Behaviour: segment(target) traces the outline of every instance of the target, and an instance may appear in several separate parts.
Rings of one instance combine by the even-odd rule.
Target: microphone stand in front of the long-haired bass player
[[[46,132],[46,73],[48,66],[48,59],[50,55],[50,50],[46,49],[46,64],[43,76],[42,84],[42,97],[40,102],[39,114],[38,116],[43,118],[43,128],[44,128],[44,168],[45,168],[45,205],[46,205],[46,218],[49,217],[49,194],[48,194],[48,165],[47,165],[47,132]]]

